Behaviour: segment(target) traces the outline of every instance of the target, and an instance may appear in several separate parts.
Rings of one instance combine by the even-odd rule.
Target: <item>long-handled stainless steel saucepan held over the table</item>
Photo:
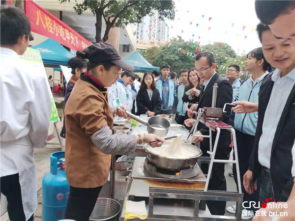
[[[118,108],[118,110],[123,111],[123,109]],[[148,119],[148,122],[143,120],[142,118],[126,111],[127,116],[132,119],[138,121],[139,123],[147,126],[147,131],[149,134],[157,135],[158,137],[165,137],[168,134],[170,123],[169,121],[160,116],[152,116]]]

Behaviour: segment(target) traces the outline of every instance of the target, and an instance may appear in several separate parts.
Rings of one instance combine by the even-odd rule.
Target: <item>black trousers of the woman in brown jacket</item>
[[[64,219],[89,221],[101,188],[102,186],[95,188],[75,188],[70,186]]]

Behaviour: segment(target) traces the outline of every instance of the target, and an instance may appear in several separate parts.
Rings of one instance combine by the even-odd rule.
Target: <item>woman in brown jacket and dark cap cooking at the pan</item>
[[[113,135],[113,114],[122,117],[125,113],[109,106],[105,87],[112,85],[121,68],[131,71],[134,67],[104,42],[77,52],[77,56],[89,62],[88,71],[81,74],[64,111],[65,171],[70,185],[65,219],[88,221],[107,181],[111,154],[132,154],[139,143],[159,140],[152,146],[160,146],[165,140],[153,134]]]

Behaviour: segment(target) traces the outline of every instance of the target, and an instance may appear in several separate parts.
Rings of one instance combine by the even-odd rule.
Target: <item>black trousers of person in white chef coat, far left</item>
[[[7,212],[10,221],[26,221],[19,174],[1,177],[1,193],[7,198]],[[33,221],[32,215],[28,221]]]

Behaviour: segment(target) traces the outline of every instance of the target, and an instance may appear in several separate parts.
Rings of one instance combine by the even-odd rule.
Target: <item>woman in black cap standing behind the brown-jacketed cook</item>
[[[72,68],[72,77],[69,80],[69,82],[66,85],[66,89],[64,92],[64,103],[63,103],[63,112],[66,105],[67,100],[69,99],[69,96],[71,95],[71,92],[75,86],[75,83],[80,79],[80,75],[87,71],[87,59],[81,59],[77,56],[72,57],[68,61],[68,65],[70,68]],[[60,137],[65,138],[65,124],[64,124],[64,117],[63,117],[63,126],[60,132]]]

